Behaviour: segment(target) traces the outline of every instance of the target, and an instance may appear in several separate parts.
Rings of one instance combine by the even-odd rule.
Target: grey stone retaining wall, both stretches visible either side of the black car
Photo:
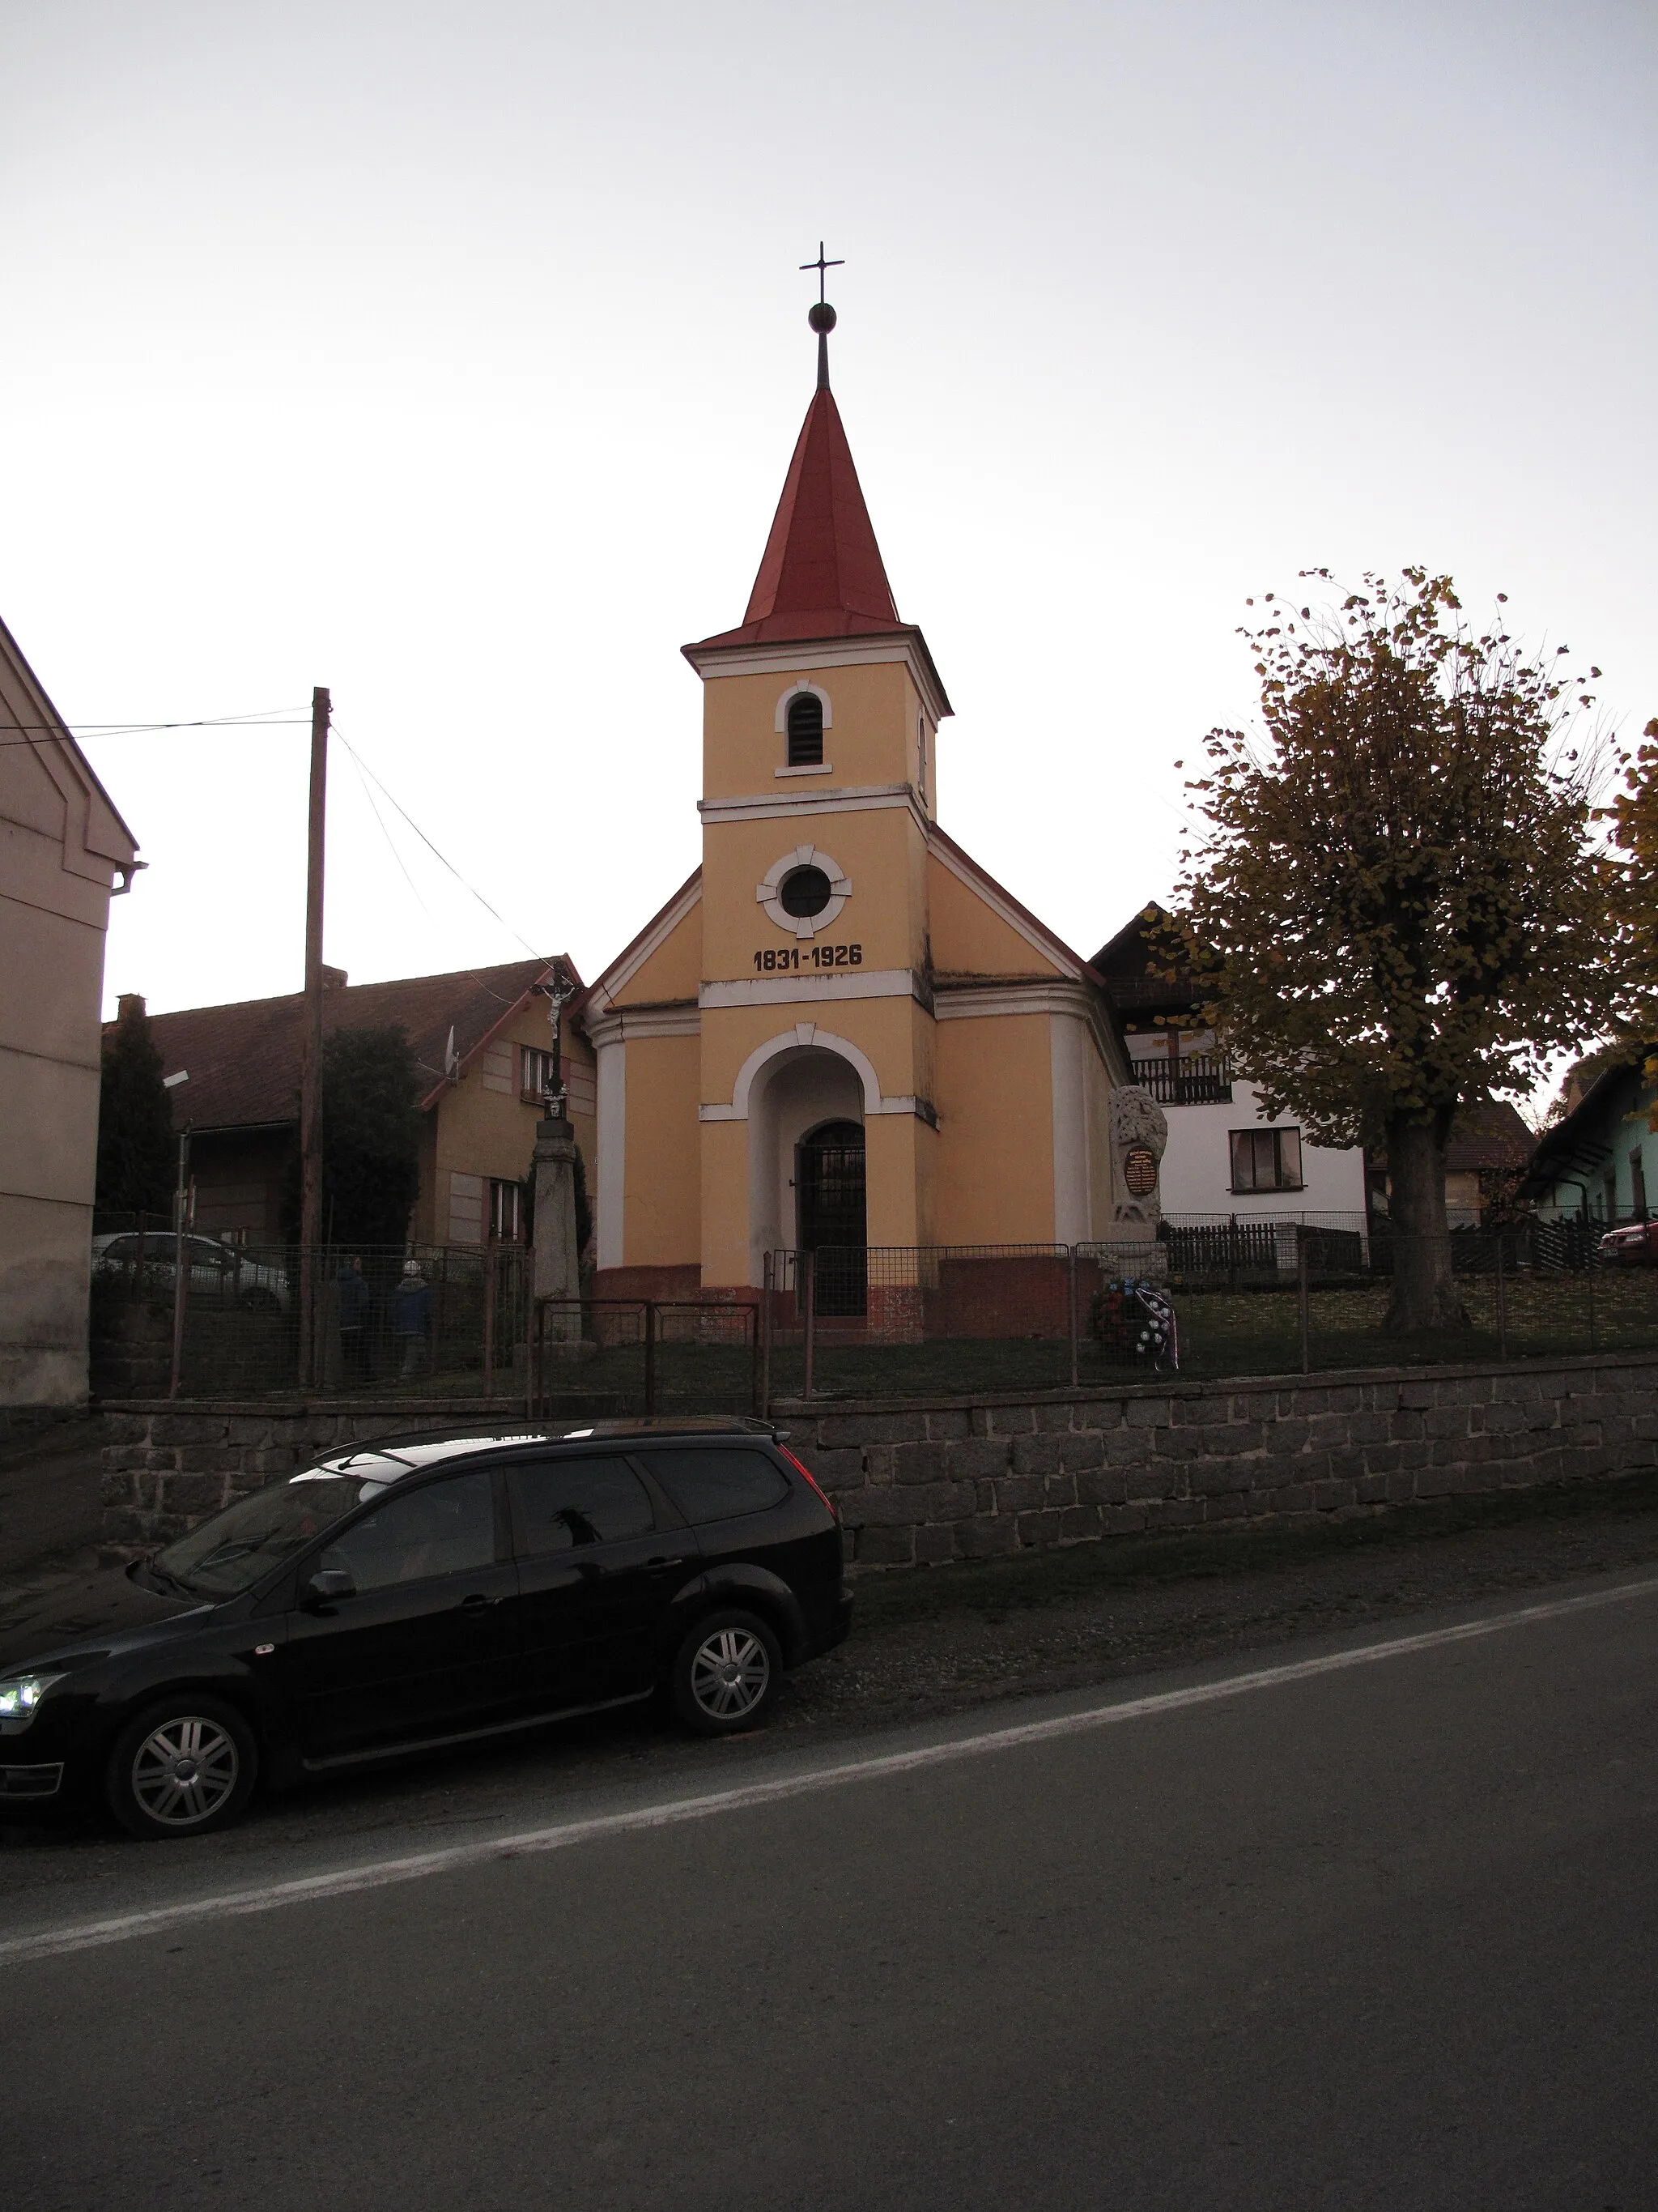
[[[128,1551],[318,1451],[389,1429],[522,1418],[511,1398],[102,1411],[104,1540]],[[853,1562],[909,1566],[1654,1467],[1658,1354],[778,1407],[776,1420],[836,1498]]]

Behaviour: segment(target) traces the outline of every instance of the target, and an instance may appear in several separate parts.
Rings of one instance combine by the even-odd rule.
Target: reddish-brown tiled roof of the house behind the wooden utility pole
[[[451,975],[347,984],[323,995],[323,1033],[396,1022],[413,1046],[429,1104],[442,1084],[451,1024],[464,1062],[550,967],[550,960],[513,960]],[[559,967],[570,964],[559,960]],[[186,1068],[190,1075],[172,1093],[175,1126],[267,1128],[296,1121],[303,1020],[305,998],[298,991],[292,998],[248,998],[232,1006],[153,1013],[150,1035],[166,1073]]]

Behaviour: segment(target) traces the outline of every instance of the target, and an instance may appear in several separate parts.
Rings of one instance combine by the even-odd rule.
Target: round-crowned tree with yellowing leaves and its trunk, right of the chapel
[[[1242,637],[1265,734],[1211,730],[1187,785],[1180,958],[1269,1113],[1315,1144],[1386,1148],[1388,1327],[1455,1327],[1452,1117],[1530,1091],[1618,1000],[1620,869],[1596,830],[1598,750],[1574,741],[1594,699],[1565,646],[1528,655],[1501,617],[1477,635],[1426,568],[1262,608]]]

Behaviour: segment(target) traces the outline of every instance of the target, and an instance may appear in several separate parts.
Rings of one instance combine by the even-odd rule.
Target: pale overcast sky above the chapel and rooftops
[[[1638,732],[1656,95],[1638,0],[0,0],[0,615],[148,863],[108,1006],[298,989],[316,684],[351,980],[643,927],[818,239],[940,821],[1081,953],[1302,568],[1505,591]]]

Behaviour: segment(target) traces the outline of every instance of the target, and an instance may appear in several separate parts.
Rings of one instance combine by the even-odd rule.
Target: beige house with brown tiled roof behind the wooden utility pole
[[[555,971],[575,978],[566,958],[367,984],[323,971],[325,1037],[398,1026],[409,1040],[424,1115],[413,1243],[520,1241],[520,1179],[550,1077],[548,1000],[537,987]],[[175,1126],[190,1128],[195,1225],[203,1234],[248,1245],[283,1234],[303,1026],[301,993],[150,1015],[164,1071],[188,1075],[170,1097]],[[575,1139],[590,1164],[592,1048],[568,1018],[564,1082]]]

